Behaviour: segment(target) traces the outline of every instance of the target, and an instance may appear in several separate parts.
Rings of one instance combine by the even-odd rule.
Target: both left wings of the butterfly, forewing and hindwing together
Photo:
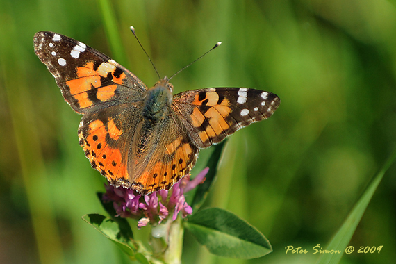
[[[34,47],[65,101],[83,114],[79,142],[91,166],[113,185],[130,186],[127,157],[145,84],[108,56],[65,35],[38,32]]]

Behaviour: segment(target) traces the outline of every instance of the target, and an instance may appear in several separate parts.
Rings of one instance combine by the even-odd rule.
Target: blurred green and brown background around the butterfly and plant
[[[243,86],[281,97],[273,117],[229,138],[207,204],[256,226],[274,252],[217,258],[186,232],[183,263],[315,263],[317,254],[285,247],[326,247],[396,147],[396,2],[105,3],[0,1],[0,263],[129,263],[81,220],[104,214],[95,194],[104,178],[84,157],[80,116],[35,56],[33,35],[55,31],[85,42],[153,85],[158,78],[131,25],[161,76],[223,42],[172,79],[175,92]],[[109,11],[121,49],[108,41]],[[341,263],[396,259],[395,173],[393,166],[384,176],[349,243],[383,245],[381,253],[354,252]]]

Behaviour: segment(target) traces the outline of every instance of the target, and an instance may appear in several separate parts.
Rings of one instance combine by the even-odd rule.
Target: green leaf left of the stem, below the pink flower
[[[126,254],[135,256],[138,250],[137,245],[135,245],[133,238],[127,238],[125,236],[125,233],[121,231],[117,222],[99,214],[84,215],[83,220],[106,236],[106,238],[115,242]]]

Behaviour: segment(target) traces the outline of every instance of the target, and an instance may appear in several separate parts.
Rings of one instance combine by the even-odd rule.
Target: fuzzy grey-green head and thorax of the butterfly
[[[158,122],[170,111],[172,104],[172,84],[165,77],[158,81],[144,95],[142,116],[149,122]]]

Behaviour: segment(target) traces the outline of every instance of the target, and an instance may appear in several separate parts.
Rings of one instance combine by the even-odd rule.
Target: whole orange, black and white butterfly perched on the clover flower
[[[149,194],[190,173],[199,149],[270,117],[280,99],[249,88],[172,95],[165,77],[147,88],[108,56],[58,33],[34,36],[35,53],[65,101],[83,117],[79,143],[111,185]]]

